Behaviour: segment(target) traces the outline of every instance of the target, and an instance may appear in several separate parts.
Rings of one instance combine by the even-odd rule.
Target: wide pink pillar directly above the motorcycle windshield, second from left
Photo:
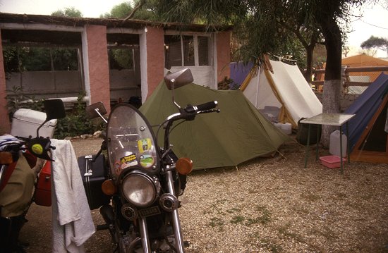
[[[87,38],[87,62],[89,66],[90,103],[102,101],[110,111],[109,64],[107,47],[107,27],[85,26]]]

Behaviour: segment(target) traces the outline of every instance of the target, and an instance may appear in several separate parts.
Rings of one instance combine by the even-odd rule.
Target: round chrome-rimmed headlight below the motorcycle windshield
[[[123,179],[121,190],[131,204],[147,207],[159,196],[160,183],[156,178],[151,178],[144,173],[129,173]]]

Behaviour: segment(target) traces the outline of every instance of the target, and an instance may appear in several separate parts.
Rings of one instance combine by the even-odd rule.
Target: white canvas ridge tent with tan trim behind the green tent
[[[321,102],[298,66],[272,60],[267,65],[254,66],[240,88],[260,112],[293,128],[301,118],[322,113]]]

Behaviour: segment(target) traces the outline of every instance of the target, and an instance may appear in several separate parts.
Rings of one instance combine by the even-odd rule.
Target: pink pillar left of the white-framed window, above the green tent
[[[164,77],[164,30],[147,27],[147,97]]]

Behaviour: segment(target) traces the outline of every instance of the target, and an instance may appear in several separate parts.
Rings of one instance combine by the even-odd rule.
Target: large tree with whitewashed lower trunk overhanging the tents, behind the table
[[[209,27],[234,24],[242,27],[245,42],[240,50],[245,61],[252,56],[262,60],[269,52],[277,52],[298,37],[308,55],[315,44],[322,42],[327,51],[323,111],[339,112],[341,93],[340,24],[347,23],[351,7],[359,7],[363,0],[154,0],[157,13],[170,22],[206,23]],[[293,34],[293,35],[291,35]],[[323,144],[329,142],[329,128],[323,133]]]

